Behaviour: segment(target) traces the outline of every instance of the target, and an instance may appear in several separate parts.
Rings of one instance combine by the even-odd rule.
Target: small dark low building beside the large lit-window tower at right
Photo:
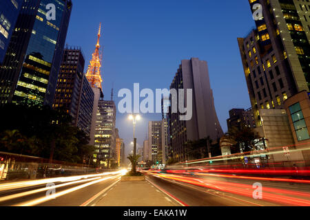
[[[229,111],[229,119],[227,119],[228,131],[236,128],[238,130],[244,128],[255,128],[254,114],[252,109],[231,109]]]

